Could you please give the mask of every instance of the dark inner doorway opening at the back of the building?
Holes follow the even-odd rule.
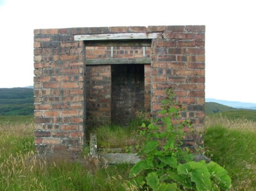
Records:
[[[111,66],[111,122],[127,124],[144,111],[144,64]]]

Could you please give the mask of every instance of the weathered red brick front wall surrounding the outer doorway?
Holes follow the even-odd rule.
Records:
[[[85,78],[96,74],[87,77],[84,60],[90,47],[85,50],[83,42],[74,41],[74,35],[144,32],[163,35],[163,38],[152,39],[152,47],[146,49],[151,68],[144,66],[145,91],[151,92],[151,102],[145,97],[145,107],[151,105],[151,112],[156,116],[165,97],[164,90],[172,87],[177,101],[187,108],[183,118],[191,118],[196,132],[203,130],[204,26],[39,29],[34,30],[34,116],[35,147],[40,153],[79,153],[82,149],[86,129],[85,98],[88,99]],[[91,48],[91,51],[96,50]],[[97,47],[97,51],[91,58],[110,58],[110,47]],[[114,58],[120,55],[138,58],[141,47],[116,47]],[[97,75],[94,77],[100,77]],[[108,95],[108,88],[97,88]],[[197,133],[187,137],[186,143],[195,141],[202,141]]]

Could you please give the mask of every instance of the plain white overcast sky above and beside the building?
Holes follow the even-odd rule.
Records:
[[[251,0],[0,0],[0,88],[33,85],[33,30],[205,25],[205,97],[256,103]]]

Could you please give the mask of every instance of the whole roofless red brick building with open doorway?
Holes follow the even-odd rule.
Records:
[[[35,147],[79,153],[89,126],[156,116],[172,87],[204,129],[204,26],[34,30]],[[186,143],[201,142],[197,133]]]

